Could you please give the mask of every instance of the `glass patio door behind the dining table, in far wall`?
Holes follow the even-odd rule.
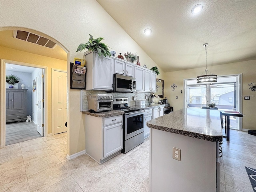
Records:
[[[196,79],[184,80],[187,107],[201,108],[214,102],[220,110],[241,111],[241,75],[218,77],[216,83],[196,84]],[[242,130],[242,118],[230,117],[230,128]]]

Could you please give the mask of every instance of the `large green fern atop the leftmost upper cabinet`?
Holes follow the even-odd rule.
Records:
[[[86,43],[81,43],[76,52],[78,51],[82,51],[84,49],[88,49],[89,51],[97,51],[99,56],[103,55],[103,56],[110,56],[110,51],[108,48],[110,48],[109,46],[107,46],[107,44],[102,43],[101,41],[104,39],[104,37],[99,37],[94,39],[93,36],[91,34],[89,34],[89,40]]]

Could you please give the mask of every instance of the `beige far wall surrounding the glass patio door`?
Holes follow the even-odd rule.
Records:
[[[183,108],[183,79],[196,78],[205,68],[196,68],[190,70],[181,70],[175,72],[168,72],[164,74],[164,92],[174,111]],[[250,100],[242,99],[242,112],[245,115],[243,118],[244,129],[256,129],[256,93],[249,90],[248,84],[256,82],[256,60],[230,63],[218,66],[208,67],[208,71],[217,75],[229,75],[242,73],[242,95],[250,96]],[[177,85],[176,91],[172,91],[170,86],[175,83]],[[180,93],[182,90],[182,94]],[[178,99],[176,99],[178,96]]]

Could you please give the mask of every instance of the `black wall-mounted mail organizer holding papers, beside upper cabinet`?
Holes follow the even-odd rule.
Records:
[[[86,68],[70,63],[70,89],[85,89]]]

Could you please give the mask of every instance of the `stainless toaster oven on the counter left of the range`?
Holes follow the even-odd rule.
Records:
[[[88,109],[91,112],[102,112],[113,110],[112,94],[93,94],[88,98]]]

